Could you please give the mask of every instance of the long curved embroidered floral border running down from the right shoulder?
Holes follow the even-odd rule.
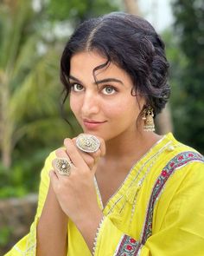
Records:
[[[182,152],[181,154],[177,154],[169,163],[163,168],[162,173],[158,176],[155,186],[153,188],[149,207],[146,215],[145,224],[143,227],[143,237],[142,244],[144,245],[146,240],[150,237],[152,233],[152,220],[153,220],[153,210],[158,199],[158,196],[161,194],[163,187],[166,181],[169,179],[169,176],[174,173],[175,169],[178,167],[182,167],[187,164],[189,161],[204,161],[204,157],[196,152]]]

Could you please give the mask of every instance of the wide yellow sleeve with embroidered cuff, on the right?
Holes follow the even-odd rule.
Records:
[[[182,183],[167,202],[169,207],[165,208],[163,221],[158,221],[162,225],[153,226],[145,244],[122,233],[106,217],[99,229],[95,256],[204,255],[204,165],[191,162],[176,172],[182,172]],[[155,207],[156,219],[161,218],[162,211],[162,205]]]

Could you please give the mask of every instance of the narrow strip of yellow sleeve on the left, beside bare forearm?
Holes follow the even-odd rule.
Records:
[[[35,220],[30,227],[29,234],[24,236],[22,240],[16,243],[15,246],[4,256],[35,256],[36,249],[36,226],[41,216],[41,211],[44,206],[49,187],[48,172],[52,169],[52,160],[55,158],[55,152],[49,154],[45,165],[41,170],[41,183],[39,188],[38,207],[35,214]]]

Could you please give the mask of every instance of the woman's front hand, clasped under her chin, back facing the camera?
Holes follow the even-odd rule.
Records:
[[[50,179],[54,193],[64,213],[73,222],[83,222],[89,218],[101,217],[93,177],[97,169],[99,158],[105,154],[105,143],[102,139],[99,150],[92,154],[81,152],[73,140],[64,141],[66,151],[58,149],[57,157],[70,159],[73,163],[70,176],[64,176],[57,171],[50,172]]]

